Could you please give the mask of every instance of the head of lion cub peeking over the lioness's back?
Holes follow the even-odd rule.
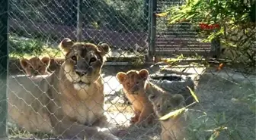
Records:
[[[50,74],[47,69],[50,65],[50,58],[43,57],[41,60],[38,57],[21,59],[21,67],[25,70],[27,76],[37,76]]]

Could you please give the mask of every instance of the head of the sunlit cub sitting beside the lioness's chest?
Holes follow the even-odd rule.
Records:
[[[144,93],[145,82],[148,79],[149,72],[146,69],[130,70],[127,73],[117,73],[117,79],[123,85],[123,89],[129,94],[137,95]]]

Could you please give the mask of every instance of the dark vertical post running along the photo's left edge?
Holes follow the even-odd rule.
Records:
[[[8,2],[0,4],[0,139],[7,137]]]

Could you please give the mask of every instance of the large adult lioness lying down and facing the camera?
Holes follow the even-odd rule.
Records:
[[[101,67],[109,46],[66,38],[59,48],[66,61],[52,74],[8,79],[9,119],[29,132],[62,138],[119,139],[97,127],[107,125]]]

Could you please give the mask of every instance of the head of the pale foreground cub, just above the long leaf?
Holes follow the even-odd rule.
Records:
[[[149,101],[152,102],[155,114],[158,117],[163,117],[172,110],[177,110],[185,106],[184,97],[179,94],[149,95]]]

